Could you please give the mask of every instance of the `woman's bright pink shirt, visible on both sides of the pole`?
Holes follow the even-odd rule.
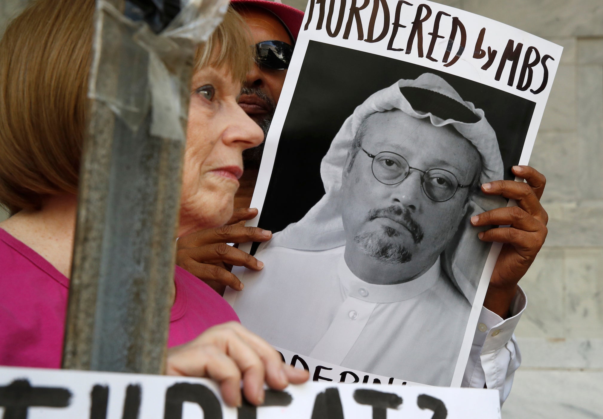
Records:
[[[229,304],[176,266],[168,347],[239,321]],[[69,279],[0,228],[0,365],[60,368]]]

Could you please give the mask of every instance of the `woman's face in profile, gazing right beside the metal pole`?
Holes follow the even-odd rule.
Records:
[[[243,172],[243,150],[264,140],[239,107],[241,84],[226,68],[206,67],[192,78],[178,236],[223,225]]]

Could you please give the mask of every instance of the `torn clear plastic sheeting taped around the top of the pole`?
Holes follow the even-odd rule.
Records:
[[[155,34],[111,2],[97,0],[89,98],[106,104],[133,132],[151,107],[150,134],[185,141],[195,49],[227,7],[228,0],[183,2],[168,27]]]

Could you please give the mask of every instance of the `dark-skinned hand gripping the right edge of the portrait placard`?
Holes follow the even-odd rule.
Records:
[[[491,228],[479,233],[486,242],[504,243],[494,266],[484,307],[505,318],[517,291],[517,283],[526,271],[546,238],[549,221],[540,197],[545,190],[546,179],[530,166],[514,166],[513,174],[527,183],[513,180],[497,180],[482,184],[486,195],[502,195],[517,201],[517,207],[497,208],[473,216],[473,225],[510,225]]]

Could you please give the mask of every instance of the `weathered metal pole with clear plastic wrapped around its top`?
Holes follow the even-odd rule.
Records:
[[[96,2],[63,368],[163,372],[192,63],[226,7]]]

